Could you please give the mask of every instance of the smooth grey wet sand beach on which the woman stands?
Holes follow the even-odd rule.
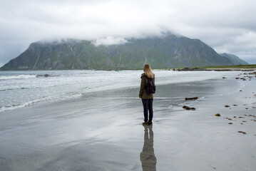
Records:
[[[255,170],[256,79],[235,77],[157,85],[152,127],[138,88],[6,111],[0,170]]]

